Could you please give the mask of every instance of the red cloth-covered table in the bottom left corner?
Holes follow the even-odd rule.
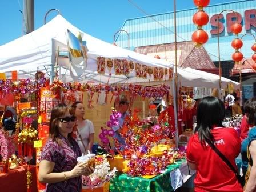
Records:
[[[32,174],[31,192],[37,191],[37,175],[35,166],[29,166]],[[9,170],[8,174],[0,173],[0,191],[27,192],[27,165],[19,166],[18,169]]]

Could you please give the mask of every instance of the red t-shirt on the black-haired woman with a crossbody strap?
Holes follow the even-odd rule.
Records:
[[[241,150],[240,139],[233,128],[217,127],[211,130],[218,150],[232,163]],[[202,146],[198,134],[194,134],[187,144],[187,161],[197,165],[195,192],[203,191],[243,191],[235,173],[210,146]]]

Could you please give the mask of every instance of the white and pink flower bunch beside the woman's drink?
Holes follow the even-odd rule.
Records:
[[[106,155],[96,159],[94,173],[89,176],[82,176],[83,189],[94,189],[102,187],[109,182],[111,178],[115,177],[117,169],[114,167],[110,171],[109,162],[107,162]]]

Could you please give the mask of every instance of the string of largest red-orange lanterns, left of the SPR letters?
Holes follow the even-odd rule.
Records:
[[[194,0],[194,4],[198,7],[198,11],[192,18],[193,23],[197,25],[197,31],[192,34],[192,41],[197,43],[196,46],[205,44],[208,41],[208,34],[203,31],[202,27],[209,22],[209,15],[203,11],[203,7],[206,7],[209,3],[210,0]]]

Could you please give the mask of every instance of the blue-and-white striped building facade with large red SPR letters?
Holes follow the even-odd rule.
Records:
[[[234,10],[238,15],[238,22],[242,24],[243,30],[239,34],[239,38],[246,33],[256,36],[256,1],[234,1],[221,3],[218,5],[209,5],[205,7],[205,12],[209,15],[209,23],[203,26],[208,33],[209,40],[204,45],[207,53],[213,62],[218,61],[218,38],[217,38],[217,16],[222,10]],[[193,15],[197,12],[197,7],[193,9],[179,10],[177,17],[177,41],[191,41],[192,33],[197,27],[192,22]],[[231,47],[231,41],[235,38],[230,33],[230,27],[235,22],[235,14],[231,11],[224,11],[219,17],[219,41],[221,61],[231,61],[231,55],[234,53]],[[163,43],[174,42],[174,13],[162,13],[150,15],[147,17],[139,17],[127,19],[122,26],[122,30],[126,30],[130,36],[130,47],[159,45]],[[119,33],[116,43],[118,46],[127,48],[128,35],[124,32]],[[253,54],[251,45],[254,43],[252,35],[246,35],[242,38],[242,53],[246,58],[250,58]]]

